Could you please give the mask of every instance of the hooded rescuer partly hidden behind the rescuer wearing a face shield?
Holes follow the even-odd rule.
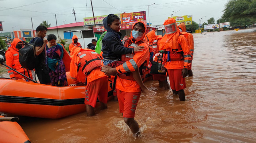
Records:
[[[157,62],[157,58],[159,58],[159,42],[162,39],[162,35],[155,35],[155,31],[152,30],[146,34],[146,39],[148,45],[151,47],[150,53],[150,61],[154,59]],[[151,63],[150,63],[151,64]],[[153,80],[158,80],[159,87],[164,87],[165,89],[169,89],[170,85],[167,82],[167,78],[162,74],[153,74]]]

